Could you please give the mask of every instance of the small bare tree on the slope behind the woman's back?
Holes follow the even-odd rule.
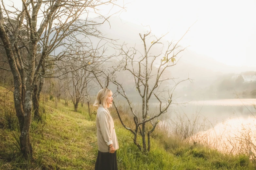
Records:
[[[97,52],[95,52],[95,50]],[[74,111],[77,111],[78,103],[84,96],[89,94],[88,88],[94,78],[90,70],[101,63],[100,57],[102,57],[102,55],[99,55],[98,48],[95,50],[85,49],[85,47],[78,44],[77,46],[73,45],[69,47],[69,51],[67,51],[67,55],[72,55],[72,58],[68,58],[68,62],[66,62],[65,66],[65,69],[70,72],[66,74],[66,80],[68,82],[66,88],[72,99]],[[104,53],[104,50],[102,53]]]

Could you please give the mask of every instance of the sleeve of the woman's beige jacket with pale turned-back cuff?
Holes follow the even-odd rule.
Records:
[[[98,120],[99,120],[99,125],[100,125],[100,131],[101,131],[104,141],[106,142],[106,144],[108,146],[113,144],[112,139],[111,139],[111,134],[109,131],[108,113],[106,113],[104,111],[100,112],[100,114],[98,116]]]

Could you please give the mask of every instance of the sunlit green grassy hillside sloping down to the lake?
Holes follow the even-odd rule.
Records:
[[[60,101],[55,108],[55,102],[48,100],[43,121],[31,124],[33,159],[24,160],[16,146],[17,120],[13,117],[11,126],[6,120],[9,113],[13,114],[12,94],[9,98],[5,93],[0,95],[0,169],[94,169],[95,116],[90,120],[86,107],[74,112],[71,104],[67,107]],[[115,126],[120,145],[117,150],[120,170],[256,169],[246,155],[224,155],[203,146],[185,144],[166,137],[159,130],[153,134],[151,152],[143,155],[132,143],[132,135],[117,119]]]

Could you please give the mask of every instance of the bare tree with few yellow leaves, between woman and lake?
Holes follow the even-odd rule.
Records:
[[[143,42],[144,52],[140,52],[135,48],[128,48],[126,44],[121,46],[115,45],[115,48],[121,51],[120,56],[123,56],[123,60],[119,62],[117,66],[108,68],[108,72],[106,70],[98,71],[98,74],[95,74],[95,77],[100,79],[99,74],[103,73],[105,79],[110,79],[111,82],[116,85],[117,94],[123,96],[127,101],[133,117],[133,125],[126,125],[122,120],[117,104],[113,102],[113,105],[115,106],[122,125],[133,134],[134,144],[139,150],[146,152],[150,151],[150,135],[159,123],[160,116],[166,113],[172,104],[175,88],[179,83],[185,81],[182,80],[176,82],[175,78],[169,78],[163,75],[168,67],[178,63],[178,61],[176,61],[178,58],[177,55],[186,48],[179,46],[179,42],[185,34],[179,41],[165,43],[167,44],[166,47],[164,43],[161,42],[165,35],[157,38],[151,34],[151,31],[139,35]],[[154,47],[156,47],[155,49],[165,48],[165,50],[164,52],[158,51],[158,54],[154,55],[154,52],[151,51]],[[132,82],[136,87],[135,91],[141,98],[141,110],[138,110],[138,107],[134,108],[125,91],[126,87],[130,87],[130,85],[120,83],[118,81],[118,76],[115,76],[115,73],[117,71],[120,72],[121,69],[127,72],[126,75],[132,75],[134,79]],[[121,74],[123,75],[124,73],[122,72]],[[188,78],[186,80],[191,79]],[[100,81],[98,82],[101,84]],[[169,86],[166,86],[166,83],[164,82],[167,82]],[[174,82],[174,84],[170,88],[171,82]],[[103,88],[102,85],[101,87]],[[157,105],[154,105],[155,107],[151,107],[150,109],[150,102]],[[151,126],[151,128],[149,126]],[[142,136],[142,145],[137,140],[138,132]]]

